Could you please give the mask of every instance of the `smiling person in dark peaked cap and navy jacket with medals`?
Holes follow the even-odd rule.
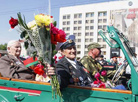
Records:
[[[56,64],[60,88],[65,88],[69,84],[79,86],[90,86],[92,80],[84,71],[83,65],[76,60],[75,42],[68,39],[60,47],[64,57]]]

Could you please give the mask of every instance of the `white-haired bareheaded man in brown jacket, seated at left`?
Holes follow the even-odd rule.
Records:
[[[20,42],[16,40],[9,41],[7,51],[8,55],[0,58],[1,75],[8,78],[34,80],[36,74],[30,68],[25,67],[20,58]],[[48,71],[51,72],[51,70]]]

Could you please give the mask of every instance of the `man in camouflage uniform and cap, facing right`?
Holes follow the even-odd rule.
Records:
[[[97,72],[102,70],[102,66],[95,60],[101,54],[100,44],[93,42],[88,45],[88,55],[84,56],[80,61],[90,73],[92,79]],[[103,78],[101,78],[103,79]]]

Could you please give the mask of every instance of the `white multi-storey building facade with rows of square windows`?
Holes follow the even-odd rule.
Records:
[[[126,10],[127,12],[128,9],[138,8],[137,4],[138,1],[135,0],[62,7],[60,8],[59,28],[63,29],[67,35],[75,35],[78,58],[82,58],[87,54],[88,44],[98,42],[103,47],[102,54],[109,59],[110,47],[103,41],[98,31],[101,29],[106,30],[106,26],[111,24],[115,27],[119,25],[118,28],[120,28],[120,25],[122,26],[126,23],[126,20],[122,18],[122,10]],[[118,20],[119,24],[116,23],[115,19],[118,17],[118,12],[121,14],[121,18]],[[116,14],[114,15],[114,13]],[[124,15],[128,14],[123,14],[123,17]],[[124,27],[121,27],[120,30],[122,31],[123,29],[124,31],[128,30]]]

